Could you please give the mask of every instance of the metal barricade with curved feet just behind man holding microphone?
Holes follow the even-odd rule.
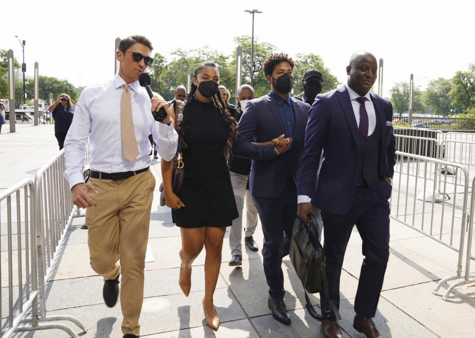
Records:
[[[64,238],[65,231],[75,212],[69,185],[64,178],[64,149],[45,164],[35,176],[37,194],[38,224],[38,274],[39,304],[42,321],[71,321],[87,331],[86,327],[75,317],[47,316],[45,284],[52,272],[52,262],[57,249]],[[72,337],[79,337],[68,326],[59,323],[48,324],[47,329],[61,329]]]

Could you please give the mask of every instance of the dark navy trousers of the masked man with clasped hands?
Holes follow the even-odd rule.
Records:
[[[252,197],[264,233],[262,256],[269,295],[272,299],[284,299],[282,250],[284,248],[288,253],[288,244],[292,238],[292,226],[297,215],[297,188],[293,180],[289,179],[277,198]]]

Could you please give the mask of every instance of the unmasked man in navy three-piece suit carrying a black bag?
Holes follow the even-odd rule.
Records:
[[[391,103],[372,92],[378,63],[354,53],[345,86],[319,95],[310,109],[298,173],[298,217],[322,210],[330,298],[339,306],[346,245],[356,225],[365,256],[355,298],[353,327],[381,337],[375,316],[389,257],[389,202],[395,164]],[[322,152],[323,150],[323,152]],[[325,301],[321,294],[322,309]],[[334,314],[322,321],[325,337],[342,337]]]

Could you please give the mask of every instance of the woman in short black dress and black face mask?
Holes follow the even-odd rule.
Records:
[[[185,179],[179,192],[172,191],[173,162],[161,160],[166,205],[172,208],[174,223],[180,227],[182,249],[179,285],[186,296],[191,288],[191,264],[206,249],[203,310],[206,324],[218,329],[219,317],[213,294],[221,266],[221,249],[226,227],[238,218],[224,146],[232,141],[236,121],[219,95],[219,72],[214,62],[195,69],[183,116],[176,126],[180,136]],[[180,104],[177,102],[176,104]],[[180,114],[180,113],[179,113]],[[179,115],[178,114],[178,115]]]

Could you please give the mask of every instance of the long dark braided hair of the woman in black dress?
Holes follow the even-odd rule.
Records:
[[[205,61],[201,63],[196,69],[194,70],[193,73],[193,78],[197,79],[198,74],[206,67],[215,67],[216,69],[218,66],[216,63],[212,61]],[[218,71],[218,76],[219,76],[219,71]],[[189,124],[190,124],[190,114],[189,114],[189,108],[191,104],[191,100],[195,96],[197,86],[194,85],[193,82],[191,82],[191,87],[190,87],[190,94],[188,94],[187,100],[185,102],[185,106],[183,107],[183,120],[180,125],[180,130],[178,132],[178,135],[180,137],[180,147],[182,149],[186,148],[186,144],[183,141],[183,136],[188,132],[189,130]],[[213,103],[216,109],[218,109],[221,119],[223,122],[224,127],[226,128],[228,135],[232,136],[233,138],[236,138],[236,133],[233,133],[233,128],[232,126],[236,126],[236,120],[231,116],[229,113],[228,109],[226,108],[226,104],[223,102],[223,99],[221,98],[221,95],[219,95],[219,91],[216,92],[215,95],[213,95]]]

